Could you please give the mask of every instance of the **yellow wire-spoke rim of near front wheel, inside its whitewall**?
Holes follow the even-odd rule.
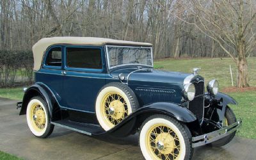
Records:
[[[179,159],[180,141],[170,127],[156,124],[147,132],[147,149],[154,159]]]

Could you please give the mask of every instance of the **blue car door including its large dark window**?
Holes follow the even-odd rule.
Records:
[[[64,51],[65,108],[94,113],[97,94],[105,84],[104,48],[67,45]]]

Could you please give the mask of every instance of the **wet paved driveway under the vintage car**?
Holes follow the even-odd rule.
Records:
[[[36,138],[19,116],[15,100],[0,98],[0,150],[24,159],[143,159],[137,136],[92,138],[55,127],[47,139]],[[197,159],[256,159],[256,140],[234,138],[221,148],[199,147]]]

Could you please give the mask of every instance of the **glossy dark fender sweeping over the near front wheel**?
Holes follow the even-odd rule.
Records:
[[[196,116],[188,108],[184,108],[179,104],[156,102],[143,106],[134,113],[131,113],[131,115],[127,116],[127,118],[108,132],[115,136],[127,136],[134,129],[138,129],[145,118],[156,114],[170,116],[182,123],[195,122],[197,120]]]

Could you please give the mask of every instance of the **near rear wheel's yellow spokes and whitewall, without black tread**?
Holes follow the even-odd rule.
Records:
[[[42,99],[31,99],[27,107],[27,122],[35,136],[43,136],[48,126],[48,116]]]

